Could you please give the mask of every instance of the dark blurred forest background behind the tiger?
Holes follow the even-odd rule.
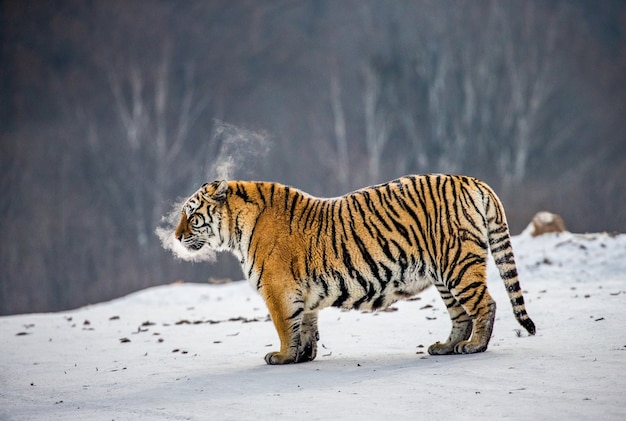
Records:
[[[0,44],[0,314],[242,278],[154,234],[226,170],[463,173],[513,233],[626,229],[621,0],[0,0]]]

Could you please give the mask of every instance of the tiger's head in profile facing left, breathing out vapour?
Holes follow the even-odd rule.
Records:
[[[224,180],[204,184],[183,205],[180,222],[174,236],[193,251],[205,245],[213,250],[224,249],[222,208],[228,193]]]

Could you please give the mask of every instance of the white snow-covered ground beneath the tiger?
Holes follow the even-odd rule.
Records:
[[[245,282],[173,284],[0,318],[0,419],[626,419],[626,235],[514,237],[528,312],[495,267],[487,352],[430,356],[434,289],[397,311],[320,313],[318,357],[267,366],[278,338]]]

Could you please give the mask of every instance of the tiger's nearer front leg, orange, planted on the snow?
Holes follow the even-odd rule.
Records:
[[[280,351],[269,352],[265,355],[265,362],[270,365],[300,362],[303,301],[298,297],[280,292],[273,294],[271,290],[266,290],[264,295],[270,317],[280,339]]]

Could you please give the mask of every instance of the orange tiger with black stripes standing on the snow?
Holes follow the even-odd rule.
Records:
[[[434,285],[452,329],[431,355],[487,349],[496,303],[489,250],[513,313],[530,335],[503,205],[483,181],[408,175],[336,198],[274,182],[206,183],[182,207],[175,240],[234,254],[263,297],[280,339],[267,364],[312,361],[318,312],[374,311]]]

